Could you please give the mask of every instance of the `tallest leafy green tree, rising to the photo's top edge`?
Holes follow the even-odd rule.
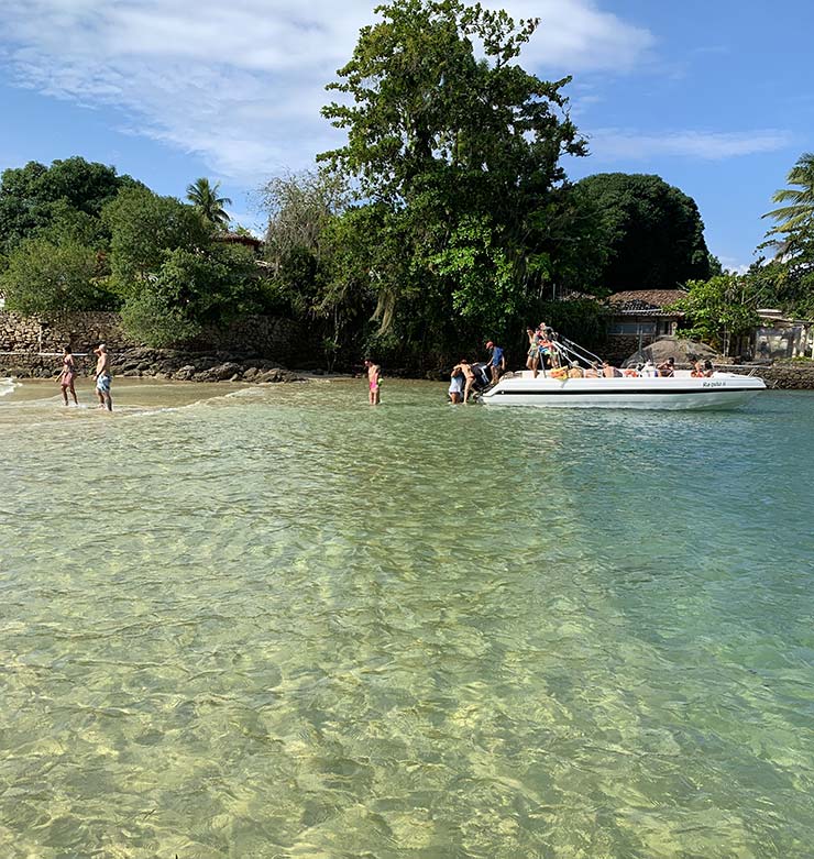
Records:
[[[522,313],[539,273],[530,212],[564,179],[560,156],[585,144],[562,93],[570,78],[544,81],[515,62],[537,20],[459,0],[376,12],[328,87],[351,100],[322,110],[348,142],[319,159],[377,207],[376,238],[397,255],[371,268],[382,332],[410,330],[424,352]]]

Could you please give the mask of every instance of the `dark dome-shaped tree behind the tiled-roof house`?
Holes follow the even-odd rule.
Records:
[[[712,274],[695,201],[659,176],[601,173],[576,187],[600,218],[600,280],[610,291],[674,289]]]

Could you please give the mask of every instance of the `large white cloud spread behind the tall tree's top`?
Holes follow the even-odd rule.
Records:
[[[646,31],[593,0],[490,2],[542,23],[527,66],[631,68]],[[374,20],[362,0],[3,0],[0,64],[21,86],[114,106],[132,131],[199,154],[219,176],[256,184],[339,141],[324,84]]]

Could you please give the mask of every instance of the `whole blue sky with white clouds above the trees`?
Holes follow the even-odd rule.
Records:
[[[591,155],[569,176],[654,173],[695,199],[741,268],[771,195],[814,151],[814,3],[505,0],[540,18],[520,64],[565,92]],[[183,198],[256,189],[341,145],[324,85],[377,20],[365,0],[0,0],[0,169],[82,155]]]

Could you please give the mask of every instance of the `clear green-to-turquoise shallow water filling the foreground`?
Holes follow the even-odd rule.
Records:
[[[0,855],[811,855],[813,395],[53,392],[0,405]]]

